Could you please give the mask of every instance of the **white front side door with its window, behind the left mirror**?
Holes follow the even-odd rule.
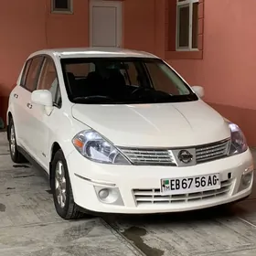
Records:
[[[49,163],[49,138],[59,126],[61,108],[61,95],[59,90],[59,78],[55,63],[50,57],[46,57],[37,82],[37,90],[48,90],[52,93],[53,111],[48,115],[44,106],[33,104],[33,113],[31,117],[31,133],[34,137],[34,151],[37,161],[46,170]]]

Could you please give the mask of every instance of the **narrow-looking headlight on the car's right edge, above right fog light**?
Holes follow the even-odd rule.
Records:
[[[245,152],[248,149],[244,134],[240,127],[235,123],[229,123],[231,132],[231,143],[229,147],[229,155],[235,155]]]

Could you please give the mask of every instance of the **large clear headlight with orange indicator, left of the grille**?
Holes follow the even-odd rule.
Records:
[[[104,163],[116,165],[130,165],[118,149],[107,142],[95,131],[82,131],[73,139],[72,143],[81,155],[86,158]]]

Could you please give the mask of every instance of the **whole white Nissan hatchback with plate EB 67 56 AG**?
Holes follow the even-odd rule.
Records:
[[[41,50],[10,94],[10,154],[48,173],[63,219],[238,201],[251,194],[251,151],[203,93],[146,52]]]

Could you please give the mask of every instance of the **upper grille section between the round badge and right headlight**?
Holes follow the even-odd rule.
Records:
[[[197,163],[208,162],[228,155],[229,140],[196,147]]]

